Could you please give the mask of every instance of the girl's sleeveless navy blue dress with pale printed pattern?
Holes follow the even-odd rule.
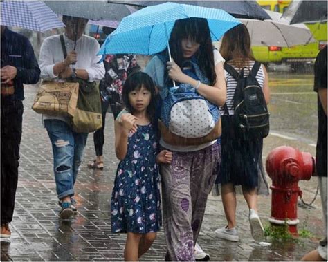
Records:
[[[118,164],[111,195],[111,232],[157,232],[161,225],[160,176],[152,124],[129,133],[127,156]]]

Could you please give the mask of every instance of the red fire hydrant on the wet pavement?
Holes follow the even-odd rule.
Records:
[[[293,147],[277,147],[266,158],[266,172],[272,179],[271,225],[287,223],[289,232],[297,235],[298,196],[302,191],[299,180],[310,180],[315,160],[310,153],[300,152]]]

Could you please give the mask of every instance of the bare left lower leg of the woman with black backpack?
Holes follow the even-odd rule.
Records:
[[[228,228],[233,228],[236,226],[236,193],[233,184],[221,185],[222,191],[222,203],[224,204],[224,213],[226,214],[226,219],[228,221]]]

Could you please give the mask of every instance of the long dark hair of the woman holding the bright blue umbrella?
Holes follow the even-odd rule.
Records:
[[[217,74],[215,73],[213,46],[208,21],[203,18],[192,17],[175,22],[169,44],[172,58],[180,68],[185,60],[181,46],[181,40],[184,38],[192,39],[200,44],[199,50],[194,56],[202,73],[209,79],[210,85],[214,85],[217,82]]]

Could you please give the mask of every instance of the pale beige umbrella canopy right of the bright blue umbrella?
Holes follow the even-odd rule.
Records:
[[[281,13],[266,12],[273,19],[239,19],[247,26],[253,46],[295,46],[316,41],[304,24],[290,25],[288,21],[281,19]]]

